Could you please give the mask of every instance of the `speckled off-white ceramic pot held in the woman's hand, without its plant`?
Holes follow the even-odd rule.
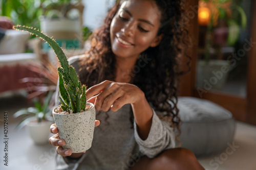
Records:
[[[95,106],[90,110],[73,114],[58,114],[52,111],[59,137],[66,141],[63,149],[71,149],[72,153],[87,151],[92,146],[95,126]]]

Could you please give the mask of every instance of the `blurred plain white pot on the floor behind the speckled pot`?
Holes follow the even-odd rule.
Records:
[[[48,120],[40,123],[32,121],[26,125],[26,129],[35,144],[46,144],[49,143],[50,127],[52,124]]]

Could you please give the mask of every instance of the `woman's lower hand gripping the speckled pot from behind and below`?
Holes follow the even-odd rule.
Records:
[[[95,120],[95,127],[99,126],[100,122],[99,120]],[[63,145],[65,145],[65,140],[60,139],[59,138],[59,134],[58,134],[58,129],[56,127],[56,124],[52,124],[50,127],[50,132],[55,134],[52,137],[49,138],[49,143],[56,148],[56,152],[57,154],[59,154],[60,156],[70,156],[71,158],[79,158],[80,156],[82,156],[82,154],[86,151],[84,151],[83,153],[75,153],[72,154],[72,151],[70,149],[64,150],[62,148]]]

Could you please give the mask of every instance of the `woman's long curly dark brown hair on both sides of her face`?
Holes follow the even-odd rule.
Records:
[[[124,0],[125,1],[125,0]],[[177,28],[184,12],[182,0],[154,0],[161,11],[161,24],[158,35],[164,34],[160,44],[149,47],[137,60],[138,70],[133,69],[133,84],[144,93],[148,103],[162,114],[158,116],[167,120],[177,130],[176,139],[180,135],[179,109],[177,108],[177,78],[184,72],[179,71],[177,58],[186,55],[188,31],[184,27]],[[118,1],[105,17],[102,27],[97,29],[90,38],[91,48],[86,53],[89,57],[79,61],[79,78],[83,84],[91,87],[104,80],[114,81],[116,60],[111,50],[110,25],[123,1]],[[190,57],[189,58],[190,62]],[[138,61],[147,58],[143,67]],[[189,63],[187,63],[188,65]],[[134,67],[134,68],[135,68]],[[188,69],[190,69],[188,67]],[[132,118],[131,118],[132,119]],[[179,141],[179,140],[178,140]]]

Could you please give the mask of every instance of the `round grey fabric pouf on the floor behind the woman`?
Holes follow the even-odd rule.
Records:
[[[182,148],[204,157],[223,152],[232,144],[236,122],[225,108],[198,98],[179,97]]]

